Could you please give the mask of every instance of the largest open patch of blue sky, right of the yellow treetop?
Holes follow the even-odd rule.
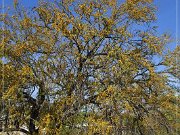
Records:
[[[157,26],[160,34],[167,32],[171,34],[174,42],[168,45],[172,50],[176,47],[176,37],[180,38],[178,27],[180,25],[180,4],[179,0],[154,0],[158,8],[157,11]],[[178,3],[177,3],[178,2]]]

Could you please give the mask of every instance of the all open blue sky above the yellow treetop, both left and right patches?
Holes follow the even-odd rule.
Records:
[[[0,0],[1,5],[4,1],[5,6],[12,6],[14,0]],[[50,0],[49,0],[50,1]],[[180,24],[180,15],[176,13],[180,13],[180,7],[177,7],[177,1],[179,0],[154,0],[154,4],[157,6],[158,11],[157,11],[157,26],[158,28],[158,33],[162,34],[164,32],[168,32],[171,34],[171,36],[174,38],[174,42],[169,44],[168,47],[173,50],[176,46],[175,39],[176,35],[180,35],[180,32],[177,33],[177,28],[176,26],[179,27]],[[19,2],[22,3],[25,7],[34,7],[37,5],[38,0],[19,0]],[[180,5],[180,1],[179,1]],[[178,10],[178,12],[176,12]],[[178,16],[178,17],[177,17]],[[176,23],[178,22],[178,25]],[[177,34],[176,34],[177,33]]]

